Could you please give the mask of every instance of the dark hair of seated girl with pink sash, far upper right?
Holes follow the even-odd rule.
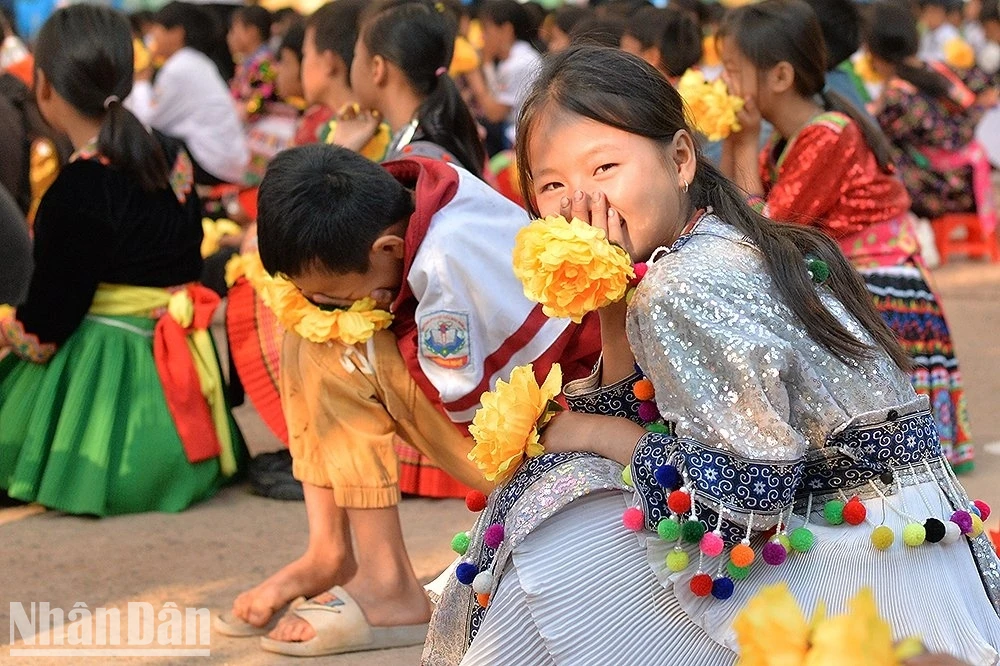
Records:
[[[869,7],[865,42],[872,55],[891,63],[896,75],[934,99],[948,99],[951,83],[933,69],[907,61],[920,49],[920,33],[913,12],[895,2],[880,1]]]

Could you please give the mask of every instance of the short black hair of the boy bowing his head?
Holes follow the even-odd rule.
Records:
[[[272,275],[364,273],[376,239],[412,214],[412,193],[378,164],[338,146],[291,148],[260,184],[260,258]]]

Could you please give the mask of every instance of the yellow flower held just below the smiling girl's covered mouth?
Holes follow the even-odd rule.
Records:
[[[576,323],[620,300],[635,275],[628,253],[609,243],[603,229],[561,215],[535,220],[517,233],[514,274],[546,315]]]

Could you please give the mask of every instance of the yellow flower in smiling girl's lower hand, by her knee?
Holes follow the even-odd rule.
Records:
[[[493,391],[484,393],[482,407],[469,426],[476,445],[469,460],[488,481],[503,481],[525,456],[544,452],[539,430],[558,411],[553,398],[562,390],[562,369],[554,364],[539,386],[531,364],[514,368],[510,382],[497,381]]]

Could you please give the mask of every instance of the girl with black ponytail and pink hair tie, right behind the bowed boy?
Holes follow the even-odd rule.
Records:
[[[422,0],[376,3],[362,17],[351,87],[392,130],[387,160],[446,159],[482,177],[479,129],[448,74],[456,27]]]

